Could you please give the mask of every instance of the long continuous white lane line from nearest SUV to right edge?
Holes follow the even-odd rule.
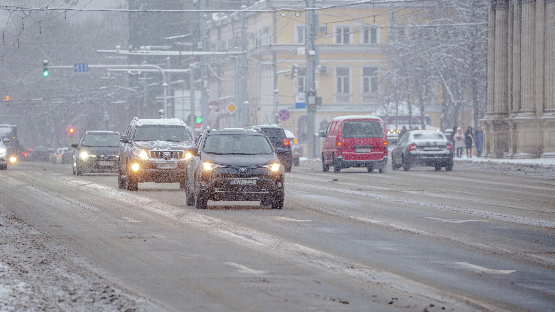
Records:
[[[453,212],[480,215],[481,217],[495,219],[495,220],[501,220],[501,221],[505,221],[505,222],[514,222],[514,223],[520,223],[520,224],[536,225],[536,226],[539,226],[539,227],[555,228],[555,222],[551,221],[551,220],[521,217],[519,215],[511,215],[511,214],[505,214],[505,213],[503,213],[503,214],[502,213],[493,213],[493,212],[489,212],[489,211],[486,211],[486,210],[479,210],[479,209],[471,209],[471,208],[447,206],[447,205],[442,205],[442,204],[434,204],[434,203],[422,202],[421,200],[412,200],[412,199],[404,199],[404,198],[400,198],[400,197],[392,197],[392,196],[386,196],[386,195],[371,194],[371,193],[360,192],[360,191],[357,191],[357,190],[335,189],[335,188],[329,188],[329,187],[321,187],[319,185],[307,185],[305,183],[295,183],[295,182],[289,182],[287,184],[291,185],[293,187],[304,188],[305,190],[306,189],[317,189],[317,190],[325,190],[327,192],[337,192],[337,193],[341,193],[341,194],[358,195],[358,196],[367,197],[367,198],[386,200],[388,202],[408,204],[408,205],[411,205],[411,206],[419,205],[419,206],[428,207],[428,208],[451,210]]]

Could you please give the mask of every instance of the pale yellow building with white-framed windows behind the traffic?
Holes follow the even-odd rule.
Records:
[[[342,4],[319,1],[317,6]],[[266,0],[250,9],[304,8],[305,2]],[[322,106],[316,113],[316,130],[326,127],[334,117],[345,114],[371,114],[381,97],[380,70],[385,67],[384,44],[392,14],[402,16],[408,9],[402,3],[359,4],[316,11],[317,96]],[[406,7],[406,5],[405,5]],[[413,6],[411,10],[414,10]],[[249,121],[276,123],[276,113],[289,109],[289,120],[281,126],[301,136],[306,109],[295,108],[295,93],[305,92],[306,56],[305,14],[293,12],[247,13]],[[211,51],[234,51],[241,43],[240,14],[214,16],[208,23]],[[234,61],[214,59],[209,82],[210,98],[220,106],[234,100]],[[296,77],[295,77],[296,76]],[[220,110],[223,111],[223,110]],[[234,125],[231,115],[220,115],[220,127]],[[298,126],[298,127],[297,127]],[[300,132],[300,133],[298,133]]]

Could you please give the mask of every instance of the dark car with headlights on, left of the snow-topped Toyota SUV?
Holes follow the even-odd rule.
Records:
[[[87,131],[79,139],[79,143],[71,146],[75,148],[73,174],[117,171],[119,132]]]

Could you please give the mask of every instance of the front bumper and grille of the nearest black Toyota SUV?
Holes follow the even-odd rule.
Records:
[[[266,168],[251,168],[240,174],[235,168],[216,168],[217,172],[204,172],[200,187],[202,196],[210,200],[251,201],[267,200],[284,195],[284,175],[282,170],[270,172]],[[232,185],[232,179],[253,179],[254,185]]]

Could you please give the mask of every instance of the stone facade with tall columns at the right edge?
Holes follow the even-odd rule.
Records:
[[[555,0],[491,0],[485,154],[555,157]]]

